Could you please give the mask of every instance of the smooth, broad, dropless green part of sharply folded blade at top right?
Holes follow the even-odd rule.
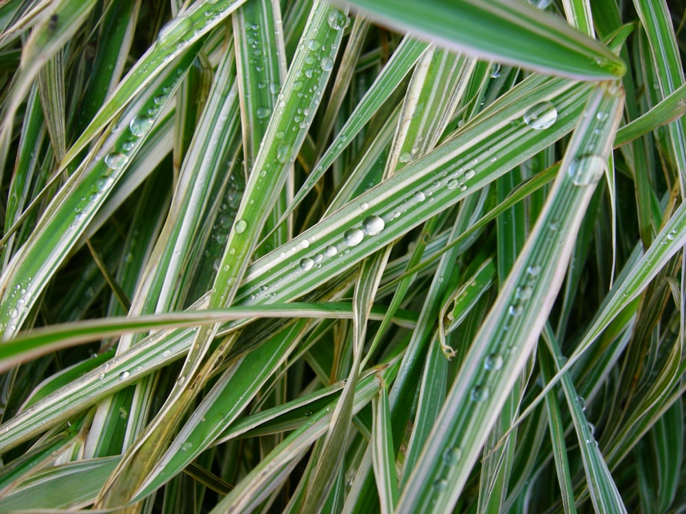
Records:
[[[521,1],[406,0],[402,9],[388,0],[347,3],[384,24],[487,60],[572,79],[613,79],[626,71],[600,42]]]

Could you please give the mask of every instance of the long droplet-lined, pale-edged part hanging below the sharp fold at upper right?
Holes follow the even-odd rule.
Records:
[[[482,323],[403,490],[399,513],[441,513],[455,505],[552,308],[622,105],[617,86],[601,84],[591,94],[539,221]],[[460,458],[446,462],[446,451],[459,452]]]

